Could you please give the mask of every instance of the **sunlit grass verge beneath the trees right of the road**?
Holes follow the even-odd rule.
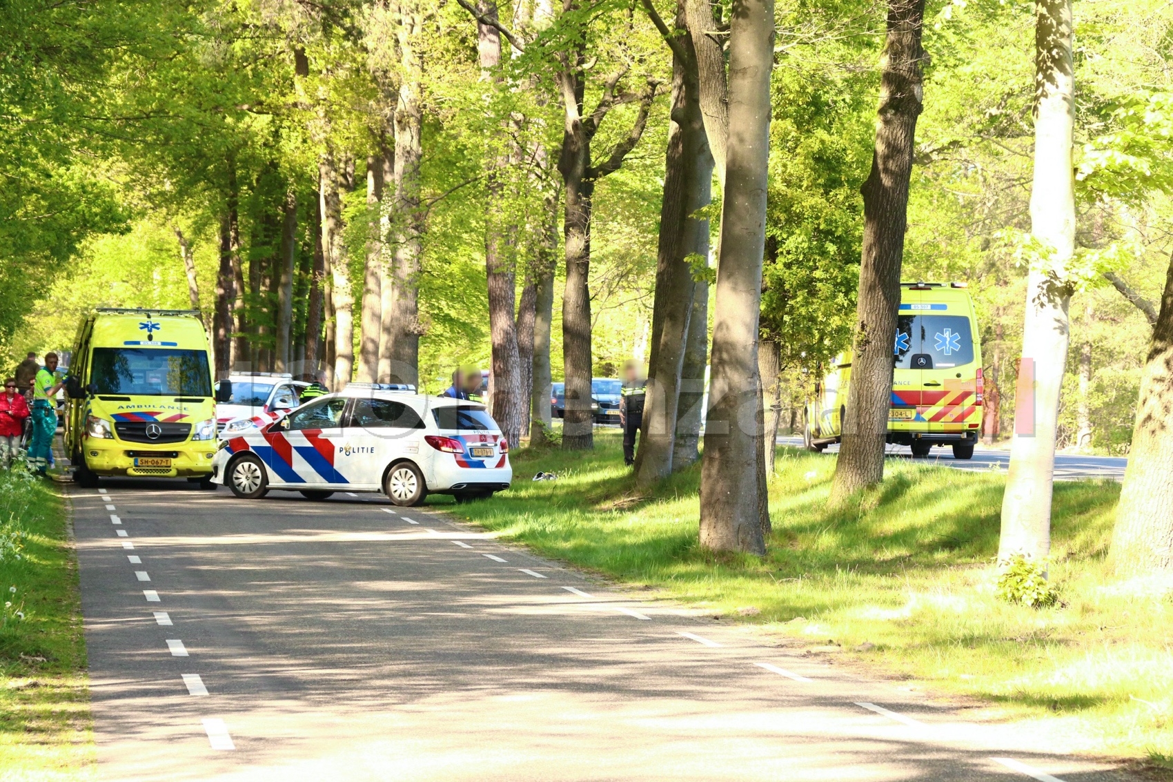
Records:
[[[1004,476],[889,461],[859,506],[828,510],[834,458],[779,451],[765,559],[697,545],[699,470],[635,490],[615,433],[585,454],[520,451],[517,480],[446,510],[534,551],[730,620],[764,625],[984,716],[1029,719],[1072,751],[1173,761],[1173,599],[1125,588],[1104,565],[1119,486],[1056,486],[1052,579],[1060,605],[994,595]],[[558,480],[530,481],[538,470]],[[436,503],[445,501],[436,498]]]

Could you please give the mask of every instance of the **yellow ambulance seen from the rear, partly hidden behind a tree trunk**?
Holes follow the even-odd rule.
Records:
[[[982,429],[982,345],[965,283],[901,283],[893,344],[888,443],[924,458],[934,445],[970,459]],[[847,412],[852,353],[841,353],[814,385],[804,413],[807,449],[839,443]]]

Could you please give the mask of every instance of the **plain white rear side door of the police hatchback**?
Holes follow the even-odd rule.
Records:
[[[418,463],[423,419],[398,399],[355,399],[339,459],[347,474],[365,487],[381,488],[382,473],[394,459]]]

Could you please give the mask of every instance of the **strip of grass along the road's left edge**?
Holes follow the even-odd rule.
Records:
[[[0,471],[0,595],[12,604],[0,619],[0,780],[93,778],[77,562],[65,499],[54,484],[16,471]]]

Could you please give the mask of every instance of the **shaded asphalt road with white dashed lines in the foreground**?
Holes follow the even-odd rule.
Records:
[[[102,483],[72,490],[102,778],[1130,778],[439,513]]]

